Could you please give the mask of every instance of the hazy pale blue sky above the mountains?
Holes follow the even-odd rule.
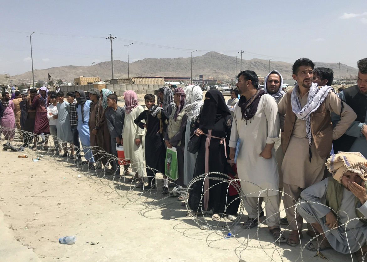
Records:
[[[0,73],[113,58],[201,56],[208,51],[292,63],[307,57],[356,67],[367,57],[367,1],[3,1]]]

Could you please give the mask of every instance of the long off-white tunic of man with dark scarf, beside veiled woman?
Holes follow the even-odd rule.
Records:
[[[270,159],[259,156],[267,143],[275,143],[279,139],[280,122],[275,99],[269,94],[262,95],[253,119],[246,121],[241,120],[241,117],[241,108],[236,106],[229,146],[235,148],[240,138],[238,177],[250,182],[240,181],[241,189],[248,197],[258,197],[259,193],[254,192],[265,189],[278,190],[279,174],[274,147]],[[260,196],[276,194],[278,191],[267,191]]]

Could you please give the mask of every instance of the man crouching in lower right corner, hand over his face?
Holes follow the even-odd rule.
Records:
[[[359,152],[339,152],[326,164],[333,177],[306,188],[298,205],[299,214],[319,235],[306,248],[352,252],[362,261],[361,251],[367,251],[367,160]]]

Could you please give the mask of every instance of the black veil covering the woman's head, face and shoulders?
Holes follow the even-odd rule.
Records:
[[[206,92],[205,97],[209,99],[204,100],[203,110],[200,114],[199,128],[205,128],[207,130],[213,129],[214,124],[230,114],[228,106],[222,93],[219,90],[209,90]]]

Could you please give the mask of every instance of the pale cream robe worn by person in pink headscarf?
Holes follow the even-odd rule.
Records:
[[[145,129],[141,129],[134,123],[139,114],[143,112],[142,106],[133,108],[129,114],[125,113],[124,127],[122,130],[122,138],[124,144],[124,154],[127,159],[131,159],[130,168],[132,172],[138,172],[139,177],[145,177],[145,165],[144,165],[144,139]],[[135,139],[140,139],[139,146],[135,145]]]

